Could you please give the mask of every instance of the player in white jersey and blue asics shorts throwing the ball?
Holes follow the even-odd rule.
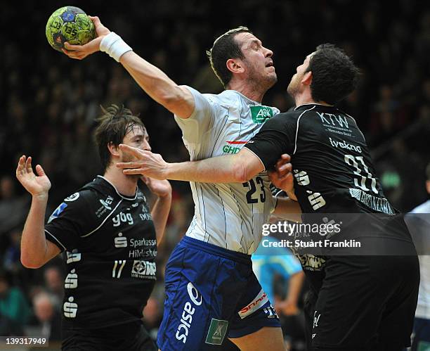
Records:
[[[121,63],[151,98],[174,113],[191,160],[237,153],[263,122],[279,113],[261,105],[277,79],[273,52],[246,27],[214,42],[209,59],[226,91],[211,95],[178,86],[98,18],[91,19],[98,37],[84,46],[66,44],[64,52],[82,59],[100,50]],[[158,347],[205,350],[228,336],[241,350],[284,350],[278,316],[250,259],[261,224],[275,208],[267,174],[243,184],[191,182],[191,189],[195,217],[167,264]],[[288,200],[279,200],[276,208],[299,211]]]

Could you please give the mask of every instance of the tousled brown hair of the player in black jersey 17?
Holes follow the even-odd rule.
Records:
[[[131,110],[124,108],[124,106],[111,105],[106,109],[101,106],[101,109],[103,115],[97,118],[99,124],[94,131],[94,139],[98,147],[103,172],[105,172],[110,164],[110,151],[107,145],[112,143],[119,146],[124,140],[124,136],[133,130],[133,127],[141,126],[145,129],[145,125],[139,117],[133,115]]]

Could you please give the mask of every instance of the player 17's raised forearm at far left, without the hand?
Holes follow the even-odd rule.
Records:
[[[47,193],[32,197],[32,205],[21,238],[21,262],[27,268],[39,268],[45,263],[47,245],[44,222],[47,203]]]

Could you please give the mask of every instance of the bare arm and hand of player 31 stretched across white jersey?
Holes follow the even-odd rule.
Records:
[[[264,170],[260,159],[247,148],[235,155],[207,158],[200,161],[168,163],[159,154],[142,151],[124,144],[119,147],[124,153],[138,160],[120,162],[117,167],[124,174],[145,174],[154,179],[200,181],[203,183],[243,183]]]

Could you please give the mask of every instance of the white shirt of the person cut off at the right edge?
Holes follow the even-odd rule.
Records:
[[[414,208],[410,213],[430,213],[430,200]],[[423,232],[426,233],[430,229],[429,215],[421,218],[424,219],[423,224],[426,225],[426,228],[423,228]],[[430,238],[424,238],[424,240],[428,243]],[[420,255],[418,258],[420,281],[415,317],[430,319],[430,256]]]

